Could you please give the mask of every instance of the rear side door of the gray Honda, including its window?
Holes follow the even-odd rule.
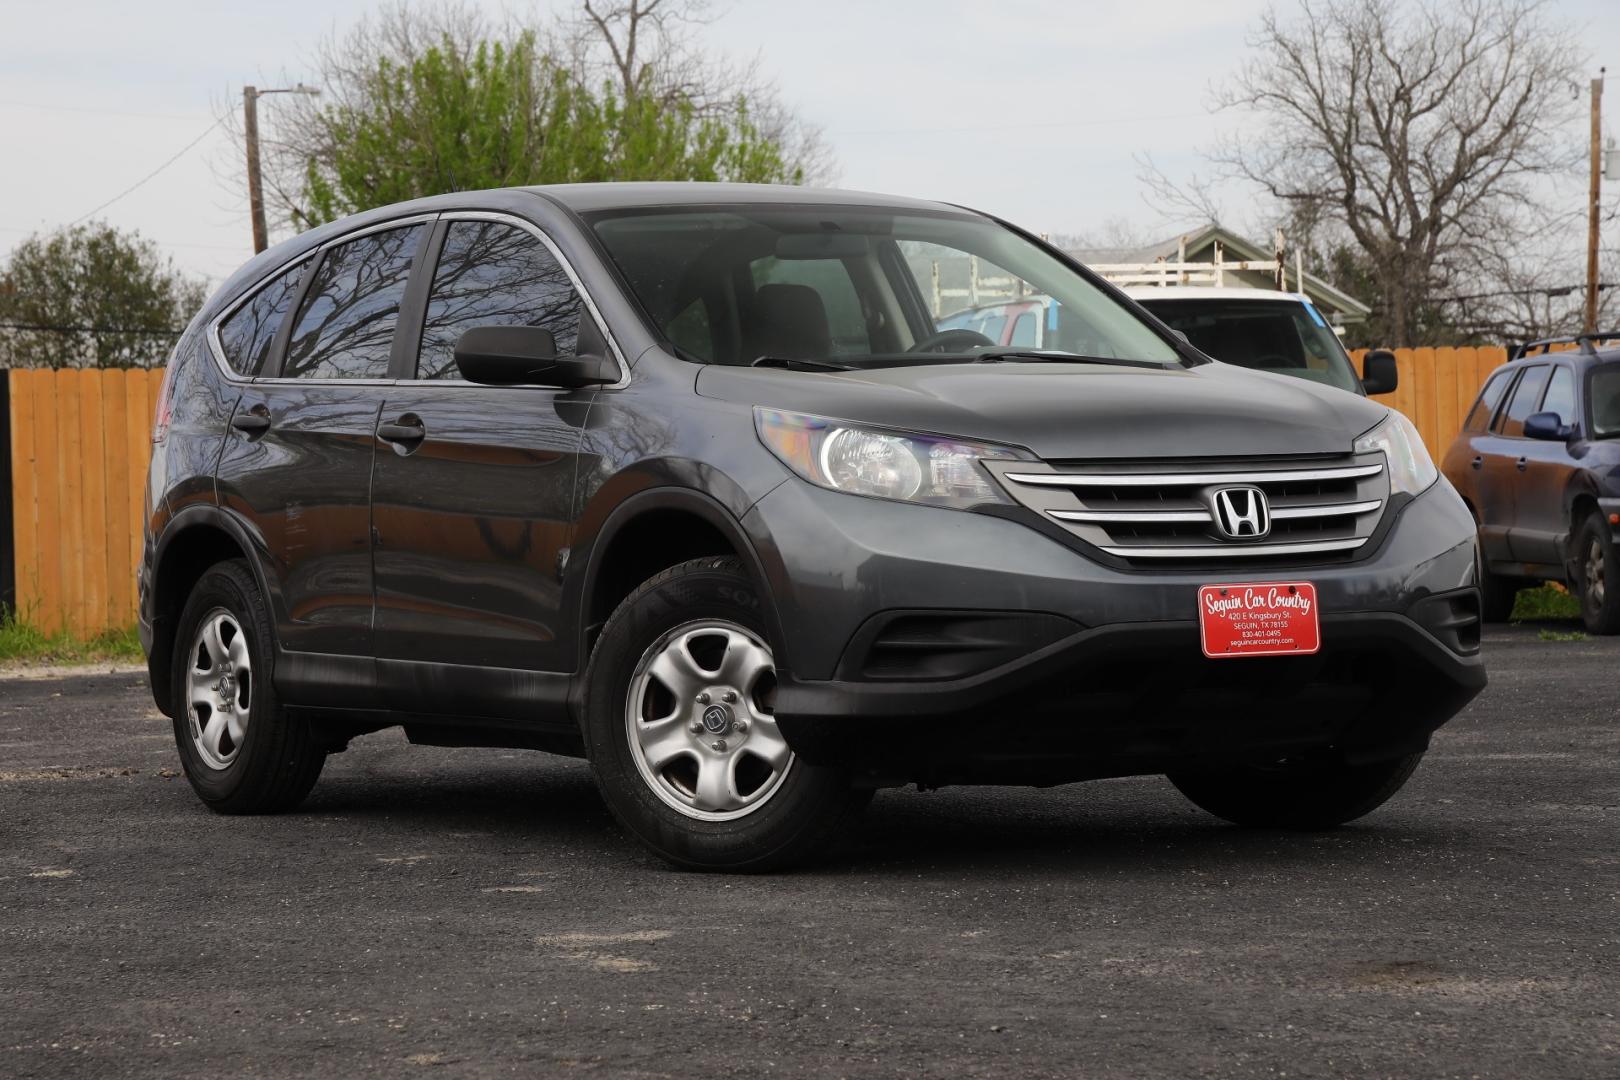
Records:
[[[282,648],[353,657],[364,670],[373,440],[400,303],[428,233],[420,220],[389,225],[318,253],[269,368],[243,389],[219,465],[222,504],[266,552]],[[332,680],[334,696],[343,685],[366,693],[345,677]]]

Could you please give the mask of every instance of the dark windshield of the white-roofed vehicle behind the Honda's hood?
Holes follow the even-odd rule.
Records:
[[[1298,300],[1158,298],[1139,303],[1215,359],[1361,392],[1338,335],[1311,304]]]

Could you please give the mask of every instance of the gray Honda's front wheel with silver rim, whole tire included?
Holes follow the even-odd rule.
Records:
[[[797,759],[776,730],[761,610],[735,559],[695,559],[635,589],[591,653],[596,785],[625,831],[676,866],[804,861],[872,798]]]

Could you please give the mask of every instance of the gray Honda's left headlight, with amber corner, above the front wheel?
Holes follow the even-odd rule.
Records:
[[[812,484],[957,510],[1008,502],[978,458],[1024,455],[982,442],[857,427],[825,416],[755,408],[760,440]]]

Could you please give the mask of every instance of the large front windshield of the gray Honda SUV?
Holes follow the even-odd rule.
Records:
[[[990,359],[993,350],[1181,363],[1103,290],[982,217],[731,206],[599,214],[591,227],[688,359],[870,368]],[[985,304],[996,313],[980,319]]]

